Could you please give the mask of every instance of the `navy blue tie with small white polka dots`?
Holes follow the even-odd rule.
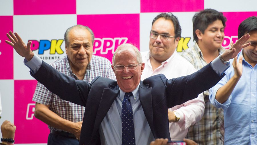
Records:
[[[135,143],[133,110],[129,97],[131,92],[125,93],[121,107],[122,145],[132,145]]]

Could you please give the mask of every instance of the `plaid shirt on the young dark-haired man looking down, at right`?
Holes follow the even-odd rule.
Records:
[[[223,47],[219,49],[219,54],[225,51]],[[202,52],[195,43],[181,53],[194,67],[199,70],[205,65]],[[224,112],[222,108],[214,107],[209,100],[209,90],[204,91],[205,110],[202,120],[190,126],[186,138],[194,140],[199,145],[222,145],[224,144]]]

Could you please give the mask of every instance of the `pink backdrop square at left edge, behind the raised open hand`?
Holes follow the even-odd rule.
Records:
[[[13,16],[0,16],[0,80],[13,79],[13,47],[5,43],[6,33],[13,31]]]

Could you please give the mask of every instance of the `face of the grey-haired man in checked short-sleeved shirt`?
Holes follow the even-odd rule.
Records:
[[[91,33],[87,29],[72,29],[68,34],[68,44],[65,49],[71,69],[87,68],[93,54]]]

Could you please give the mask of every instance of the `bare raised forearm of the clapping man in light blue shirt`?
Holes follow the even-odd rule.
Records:
[[[226,100],[228,100],[229,96],[234,90],[239,79],[240,79],[239,76],[234,75],[230,80],[228,80],[228,82],[224,86],[218,89],[215,99],[221,104],[226,102]]]

